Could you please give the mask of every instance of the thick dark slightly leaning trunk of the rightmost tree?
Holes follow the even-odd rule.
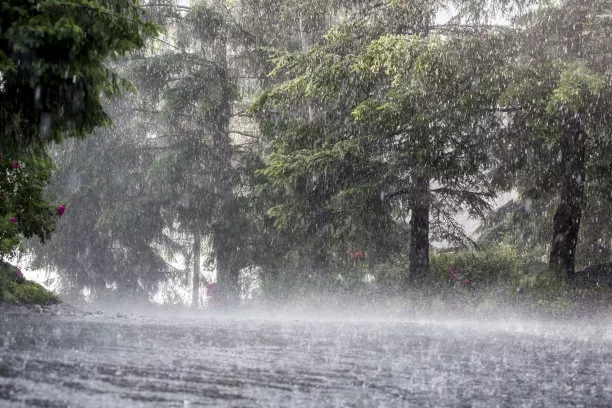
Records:
[[[576,247],[582,201],[584,197],[585,155],[587,135],[577,118],[570,119],[561,140],[563,179],[560,202],[553,221],[549,269],[555,276],[564,276],[566,282],[574,279]]]

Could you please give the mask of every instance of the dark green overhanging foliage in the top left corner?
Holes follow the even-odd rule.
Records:
[[[0,3],[3,153],[84,137],[110,123],[101,95],[129,87],[105,65],[158,28],[134,0]]]

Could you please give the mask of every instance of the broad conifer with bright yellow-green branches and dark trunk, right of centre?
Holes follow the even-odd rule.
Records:
[[[465,237],[452,215],[482,215],[492,196],[483,166],[498,123],[487,73],[505,41],[490,27],[436,25],[436,12],[427,2],[394,2],[358,13],[307,53],[279,56],[273,75],[286,81],[255,105],[287,123],[274,129],[265,170],[271,186],[296,186],[272,208],[277,221],[337,231],[340,220],[375,217],[364,227],[380,237],[410,211],[415,284],[427,277],[430,215],[435,236]],[[305,104],[316,106],[313,118],[300,116]],[[384,251],[379,244],[373,253]]]

